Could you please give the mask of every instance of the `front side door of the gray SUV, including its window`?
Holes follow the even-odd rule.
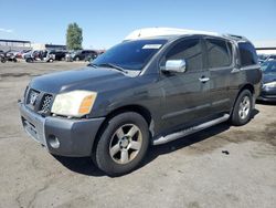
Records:
[[[210,76],[203,62],[202,40],[184,39],[173,45],[161,61],[185,60],[184,73],[161,73],[160,86],[164,93],[162,123],[166,128],[191,124],[210,115]]]

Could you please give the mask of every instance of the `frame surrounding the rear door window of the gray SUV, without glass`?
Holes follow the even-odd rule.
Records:
[[[208,46],[206,46],[206,40],[213,39],[213,40],[220,40],[220,41],[224,41],[227,48],[227,53],[230,53],[230,49],[227,46],[227,43],[230,43],[232,45],[232,54],[231,54],[231,63],[230,65],[226,66],[219,66],[219,67],[211,67],[209,64],[209,55],[208,55]],[[210,71],[217,71],[217,70],[229,70],[229,69],[233,69],[235,66],[235,44],[233,41],[227,40],[227,39],[223,39],[223,38],[215,38],[215,37],[204,37],[203,38],[203,42],[204,42],[204,53],[205,53],[205,58],[206,58],[206,65],[208,65],[208,70]]]

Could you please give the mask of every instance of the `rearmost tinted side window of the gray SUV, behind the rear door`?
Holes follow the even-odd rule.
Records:
[[[238,43],[242,66],[254,65],[258,63],[258,58],[254,46],[251,43]]]

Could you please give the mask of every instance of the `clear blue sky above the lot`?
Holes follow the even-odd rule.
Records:
[[[140,28],[168,27],[276,40],[276,0],[2,0],[0,39],[65,44],[68,23],[83,48],[108,49]]]

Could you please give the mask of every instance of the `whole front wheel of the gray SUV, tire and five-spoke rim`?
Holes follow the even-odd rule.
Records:
[[[109,176],[132,171],[142,162],[149,146],[149,128],[135,112],[121,113],[107,123],[93,153],[94,163]]]

